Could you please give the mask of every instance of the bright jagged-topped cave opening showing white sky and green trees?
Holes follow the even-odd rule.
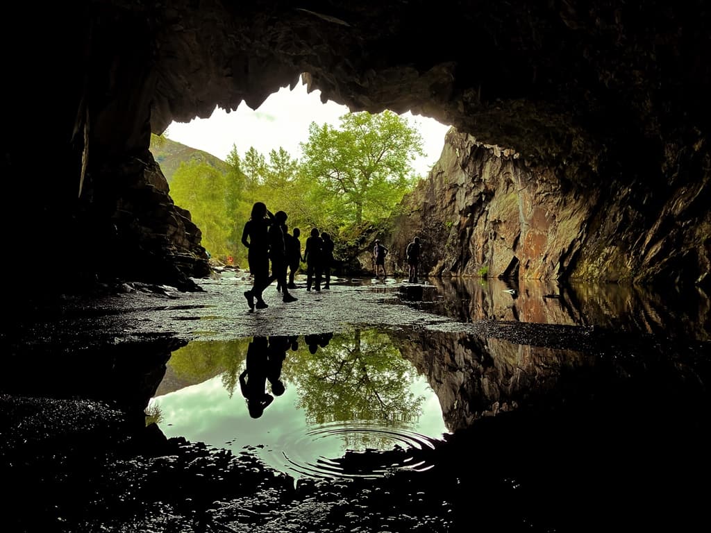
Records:
[[[383,177],[374,173],[374,177],[368,178],[380,180],[378,188],[372,188],[370,194],[379,195],[377,200],[385,208],[397,205],[405,192],[412,190],[419,179],[427,177],[442,154],[444,136],[449,130],[449,126],[434,119],[415,116],[410,112],[400,115],[383,112],[368,116],[384,117],[387,113],[419,134],[422,151],[408,155],[409,161],[402,159],[410,166],[407,176],[391,173]],[[367,210],[346,211],[348,206],[339,205],[336,201],[343,198],[350,201],[368,191],[342,192],[336,195],[340,198],[334,200],[332,187],[325,185],[320,192],[311,190],[315,180],[310,180],[309,190],[306,190],[306,185],[301,188],[294,186],[298,181],[304,183],[305,176],[309,181],[307,175],[313,176],[319,171],[317,165],[302,164],[307,160],[302,148],[313,138],[312,128],[341,130],[345,124],[343,117],[350,115],[346,106],[331,101],[322,102],[321,92],[309,92],[302,81],[293,89],[287,86],[272,93],[257,109],[251,109],[246,102],[242,102],[232,112],[217,107],[207,119],[173,122],[164,136],[153,137],[151,152],[166,176],[171,198],[176,205],[191,213],[193,222],[201,229],[203,247],[210,258],[226,265],[246,268],[246,248],[241,243],[241,232],[255,201],[267,203],[272,212],[287,212],[289,230],[301,227],[302,246],[311,227],[336,232],[349,225],[363,227],[365,224],[360,224],[361,220],[376,226],[374,222],[385,220],[385,214],[389,215],[385,208],[375,211],[378,217],[373,215],[373,210],[370,213]],[[374,121],[370,125],[373,129],[368,131],[382,132],[383,136],[390,133],[390,130],[383,128],[392,126],[391,123]],[[364,131],[366,129],[363,128]],[[326,140],[321,146],[329,150],[355,151],[360,142],[336,144],[338,139],[334,137],[331,140],[334,144],[328,144]],[[360,166],[363,158],[355,157],[351,161],[354,161],[353,168]],[[326,163],[321,161],[319,164]],[[383,166],[384,170],[389,168]],[[360,178],[355,173],[348,177],[354,181]],[[392,179],[395,183],[403,178],[407,181],[407,187],[398,184],[397,188],[388,189],[385,186],[385,181]],[[392,197],[384,196],[388,194]],[[383,202],[383,198],[387,203]],[[363,200],[363,203],[366,201]],[[370,201],[377,203],[373,198]],[[355,240],[350,237],[349,240]]]

